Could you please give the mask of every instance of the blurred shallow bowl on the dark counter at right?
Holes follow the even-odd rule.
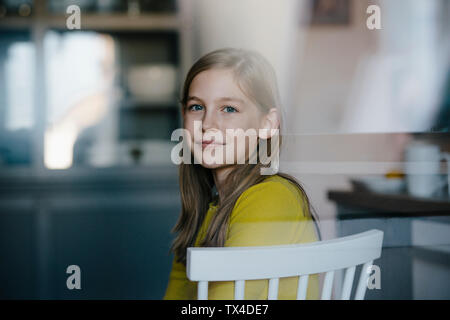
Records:
[[[403,178],[386,178],[384,176],[362,177],[352,179],[354,189],[365,189],[377,193],[398,193],[405,189]]]

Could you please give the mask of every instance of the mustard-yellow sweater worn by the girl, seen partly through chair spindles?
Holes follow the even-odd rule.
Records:
[[[225,247],[270,246],[317,241],[314,223],[309,212],[304,212],[300,191],[280,176],[270,176],[248,188],[236,201],[231,212]],[[199,229],[195,246],[205,236],[217,207],[210,204]],[[255,266],[257,268],[258,266]],[[298,277],[281,278],[278,299],[296,299]],[[232,300],[234,282],[210,282],[208,299]],[[245,299],[267,299],[268,280],[245,282]],[[307,299],[319,298],[318,275],[308,281]],[[186,277],[186,267],[175,259],[164,299],[197,299],[197,283]]]

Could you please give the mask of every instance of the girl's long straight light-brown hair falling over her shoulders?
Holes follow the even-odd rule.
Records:
[[[193,79],[202,71],[213,68],[224,68],[233,71],[238,86],[259,108],[266,113],[273,107],[279,111],[280,98],[275,72],[270,63],[259,53],[235,48],[223,48],[210,52],[197,60],[186,75],[180,99],[181,107],[185,108],[189,95],[189,88]],[[280,119],[280,127],[282,117]],[[281,146],[279,134],[278,147]],[[258,139],[259,140],[259,139]],[[267,139],[269,150],[271,139]],[[260,145],[258,144],[258,148]],[[276,150],[278,152],[279,150]],[[269,157],[273,154],[269,154]],[[192,155],[191,155],[192,157]],[[179,166],[179,184],[181,194],[181,214],[172,232],[177,233],[171,250],[177,261],[186,264],[186,249],[194,246],[198,230],[208,211],[209,204],[216,202],[217,211],[206,231],[202,247],[222,247],[227,238],[229,217],[240,195],[253,185],[262,182],[267,175],[261,174],[267,164],[257,161],[254,164],[236,165],[224,181],[223,197],[219,199],[212,193],[214,179],[210,169],[191,161],[190,164],[181,163]],[[318,219],[309,198],[302,185],[292,176],[276,173],[292,182],[299,190],[304,200],[303,212],[310,215],[317,225]],[[320,229],[317,227],[320,239]]]

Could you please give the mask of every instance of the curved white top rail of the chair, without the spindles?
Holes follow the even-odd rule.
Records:
[[[381,256],[383,232],[302,244],[187,249],[191,281],[256,280],[322,273],[356,266]]]

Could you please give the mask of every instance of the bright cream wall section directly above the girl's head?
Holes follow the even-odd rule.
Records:
[[[283,104],[290,105],[305,5],[297,0],[194,0],[194,59],[223,47],[256,50],[273,65]]]

